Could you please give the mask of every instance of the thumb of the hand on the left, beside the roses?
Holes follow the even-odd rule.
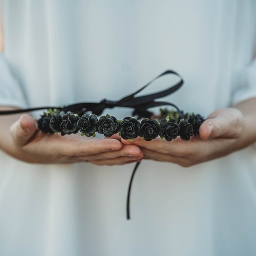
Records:
[[[37,130],[37,122],[27,114],[20,116],[10,128],[12,139],[17,146],[26,145]]]

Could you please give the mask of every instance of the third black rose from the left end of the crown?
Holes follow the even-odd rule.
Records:
[[[62,115],[61,122],[61,135],[77,133],[79,131],[77,121],[80,119],[79,116],[68,111]]]

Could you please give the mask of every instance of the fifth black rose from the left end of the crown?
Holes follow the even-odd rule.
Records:
[[[111,137],[119,132],[119,122],[114,116],[101,116],[98,121],[98,132]]]

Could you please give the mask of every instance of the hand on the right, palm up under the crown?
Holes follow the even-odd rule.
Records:
[[[252,122],[237,108],[224,108],[214,111],[200,127],[200,137],[183,141],[178,137],[171,142],[155,139],[147,142],[142,138],[121,140],[125,145],[137,145],[143,150],[144,158],[177,163],[188,167],[197,163],[225,156],[249,145],[255,135],[249,131]],[[255,127],[254,113],[254,127]],[[255,131],[255,128],[254,128]]]

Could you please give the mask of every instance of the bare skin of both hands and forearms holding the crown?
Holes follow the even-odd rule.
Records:
[[[0,52],[3,51],[3,29],[0,17]],[[14,109],[0,107],[0,110]],[[188,142],[171,143],[142,138],[121,140],[118,135],[100,140],[81,138],[79,134],[49,135],[38,130],[32,116],[0,116],[0,148],[13,157],[29,163],[91,162],[115,165],[145,159],[177,163],[188,167],[244,148],[256,141],[256,98],[234,108],[211,113],[200,127],[200,136]],[[68,145],[68,146],[67,146]]]

